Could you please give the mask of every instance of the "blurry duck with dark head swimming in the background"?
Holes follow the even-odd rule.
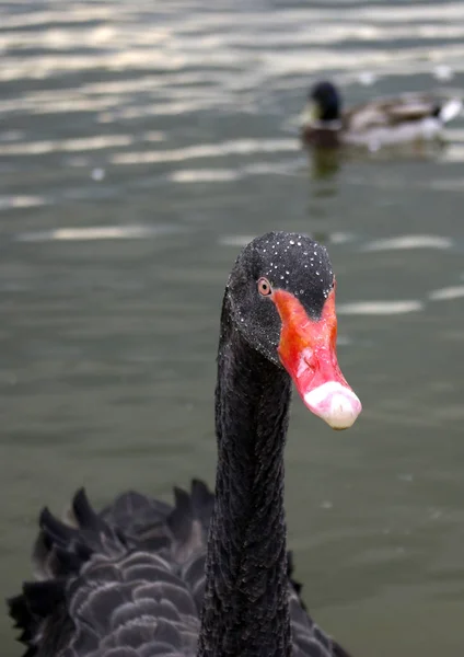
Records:
[[[344,110],[340,91],[320,81],[309,93],[301,116],[301,136],[308,146],[352,146],[375,151],[411,142],[438,140],[443,127],[462,111],[459,99],[409,93]]]

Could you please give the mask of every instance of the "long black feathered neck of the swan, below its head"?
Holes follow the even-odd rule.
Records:
[[[290,390],[287,372],[234,328],[225,297],[200,657],[291,654],[283,511]]]

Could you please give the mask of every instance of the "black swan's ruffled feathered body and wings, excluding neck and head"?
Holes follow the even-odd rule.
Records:
[[[37,580],[9,600],[24,657],[196,655],[213,495],[194,480],[174,505],[129,492],[96,514],[83,489],[66,521],[44,509]],[[349,657],[308,614],[288,558],[294,657]]]

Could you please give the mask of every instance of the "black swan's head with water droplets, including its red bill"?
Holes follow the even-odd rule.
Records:
[[[250,346],[287,370],[314,415],[346,429],[362,407],[338,366],[335,287],[324,246],[272,232],[242,251],[225,293]]]

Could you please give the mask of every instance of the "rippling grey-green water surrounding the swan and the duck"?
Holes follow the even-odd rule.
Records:
[[[314,162],[295,118],[322,76],[352,103],[462,88],[464,5],[208,7],[0,4],[1,592],[43,504],[213,481],[228,273],[251,237],[304,231],[329,247],[364,405],[337,435],[294,404],[305,599],[357,656],[457,655],[464,120],[438,153]],[[0,633],[19,655],[4,614]]]

